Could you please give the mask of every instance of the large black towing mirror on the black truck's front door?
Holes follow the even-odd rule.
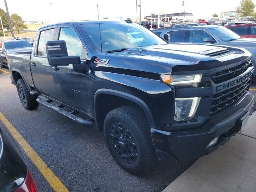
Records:
[[[46,54],[50,66],[68,66],[81,63],[79,56],[68,56],[64,40],[46,42]]]

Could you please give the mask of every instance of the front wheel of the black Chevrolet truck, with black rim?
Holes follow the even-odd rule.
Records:
[[[139,174],[156,159],[150,126],[144,112],[134,106],[121,106],[110,111],[104,120],[108,150],[126,171]]]

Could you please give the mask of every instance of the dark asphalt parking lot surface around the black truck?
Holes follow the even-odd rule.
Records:
[[[103,133],[82,127],[39,105],[25,110],[10,74],[0,74],[0,112],[70,191],[162,191],[195,160],[159,162],[142,176],[122,170],[108,152]],[[256,83],[250,92],[256,96]],[[256,110],[256,102],[253,110]],[[39,191],[54,191],[25,154]]]

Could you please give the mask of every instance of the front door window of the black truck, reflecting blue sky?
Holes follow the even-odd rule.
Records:
[[[81,59],[86,59],[86,50],[76,34],[76,32],[69,27],[62,27],[60,29],[59,40],[64,40],[66,42],[68,56],[80,56]]]

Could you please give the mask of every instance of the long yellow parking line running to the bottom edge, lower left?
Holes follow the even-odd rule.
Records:
[[[50,170],[50,168],[45,164],[45,162],[36,154],[36,152],[29,146],[29,144],[24,140],[20,133],[12,126],[12,124],[5,118],[5,116],[0,112],[0,120],[5,124],[8,130],[11,132],[12,136],[17,140],[38,170],[42,173],[44,178],[48,181],[50,186],[56,192],[68,192],[68,189],[59,180],[59,178]]]

